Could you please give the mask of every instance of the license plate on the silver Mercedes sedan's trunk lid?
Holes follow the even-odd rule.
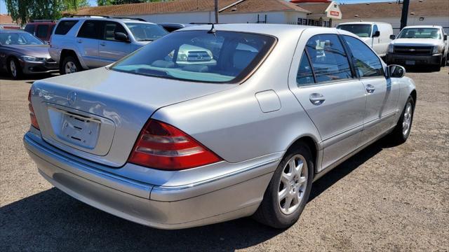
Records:
[[[70,144],[83,148],[95,148],[100,123],[91,118],[65,113],[62,116],[60,137]]]

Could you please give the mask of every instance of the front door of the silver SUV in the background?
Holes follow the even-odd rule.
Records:
[[[118,22],[102,22],[102,37],[99,46],[99,54],[103,65],[116,62],[131,52],[131,44],[129,42],[117,41],[114,38],[116,32],[122,32],[129,37],[125,28]]]

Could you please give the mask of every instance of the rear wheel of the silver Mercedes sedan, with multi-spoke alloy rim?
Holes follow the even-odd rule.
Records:
[[[292,172],[292,160],[295,161],[296,174]],[[300,143],[292,151],[288,151],[279,163],[253,218],[272,228],[289,228],[295,224],[309,200],[313,176],[311,151],[306,144]],[[281,192],[285,192],[282,193],[285,196],[279,197]]]

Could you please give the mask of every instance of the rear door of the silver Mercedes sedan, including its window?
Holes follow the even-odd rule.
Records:
[[[304,31],[295,57],[300,57],[300,62],[290,71],[295,75],[289,78],[290,90],[321,135],[324,169],[357,148],[363,129],[365,90],[354,78],[337,34]]]

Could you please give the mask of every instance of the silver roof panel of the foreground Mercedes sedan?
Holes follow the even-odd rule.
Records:
[[[182,29],[182,31],[209,30],[211,27],[212,25],[194,25],[192,27],[186,27]],[[217,31],[237,31],[237,32],[248,32],[253,34],[267,34],[272,36],[282,36],[286,32],[300,32],[304,29],[314,28],[306,25],[283,25],[283,24],[222,24],[222,25],[214,25],[214,27],[215,30]],[[323,29],[323,27],[316,27],[316,28]],[[335,29],[335,28],[324,28],[324,29]]]

